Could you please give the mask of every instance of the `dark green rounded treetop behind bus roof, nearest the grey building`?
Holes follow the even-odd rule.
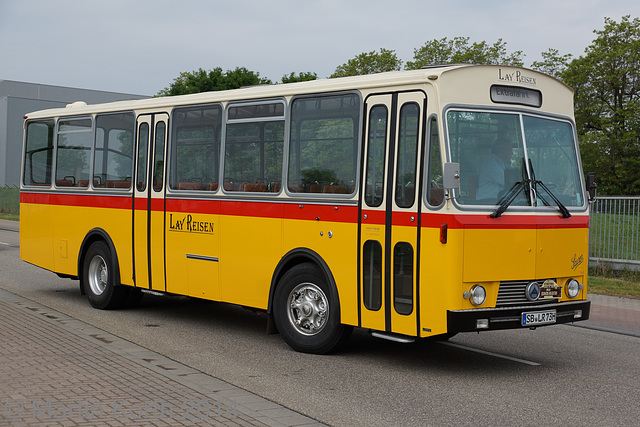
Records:
[[[157,96],[238,89],[260,84],[271,84],[271,80],[261,78],[260,73],[249,71],[244,67],[236,67],[235,70],[227,70],[226,73],[220,67],[209,71],[200,68],[197,71],[180,73],[171,86],[162,89]]]

